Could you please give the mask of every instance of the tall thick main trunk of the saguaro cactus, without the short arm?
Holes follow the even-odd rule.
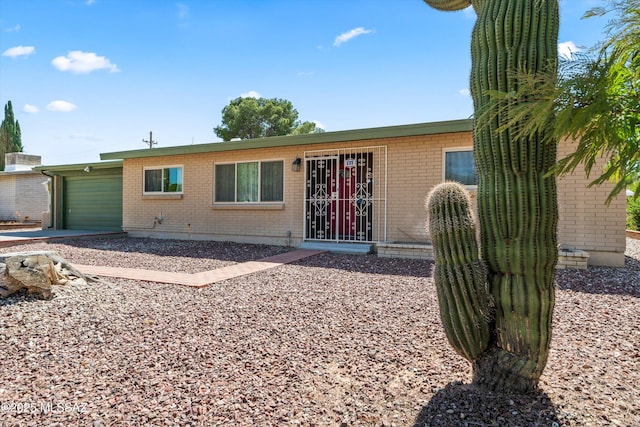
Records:
[[[542,134],[517,137],[504,126],[511,107],[490,94],[515,91],[518,72],[555,75],[558,1],[424,1],[440,10],[473,5],[478,15],[471,37],[473,140],[481,254],[495,320],[486,350],[470,358],[474,383],[530,391],[537,387],[551,340],[558,210],[555,179],[547,173],[556,144]],[[440,245],[433,241],[434,247]],[[437,263],[441,251],[435,252]],[[452,301],[441,299],[441,310],[445,303]]]

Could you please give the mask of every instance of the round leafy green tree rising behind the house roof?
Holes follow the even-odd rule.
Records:
[[[286,99],[233,99],[222,109],[222,124],[213,128],[223,141],[320,132],[313,122],[300,122]]]

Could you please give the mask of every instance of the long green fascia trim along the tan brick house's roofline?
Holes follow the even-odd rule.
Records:
[[[311,133],[306,135],[273,136],[269,138],[247,139],[232,142],[214,142],[209,144],[118,151],[112,153],[101,153],[100,158],[102,160],[137,159],[143,157],[175,156],[180,154],[199,154],[220,151],[250,150],[256,148],[286,147],[293,145],[326,144],[331,142],[359,141],[365,139],[470,132],[472,129],[473,120],[463,119],[402,126]]]

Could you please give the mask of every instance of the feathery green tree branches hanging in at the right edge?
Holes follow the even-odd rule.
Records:
[[[575,141],[553,171],[562,176],[580,165],[588,177],[597,171],[589,185],[615,183],[610,203],[640,180],[640,0],[613,0],[584,18],[606,15],[613,15],[606,39],[586,53],[561,58],[557,79],[518,70],[517,90],[490,95],[508,106],[504,127],[517,126],[519,136],[539,133],[553,121],[546,135]]]

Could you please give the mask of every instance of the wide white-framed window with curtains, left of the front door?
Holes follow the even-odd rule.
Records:
[[[284,201],[284,160],[214,165],[215,203]]]

